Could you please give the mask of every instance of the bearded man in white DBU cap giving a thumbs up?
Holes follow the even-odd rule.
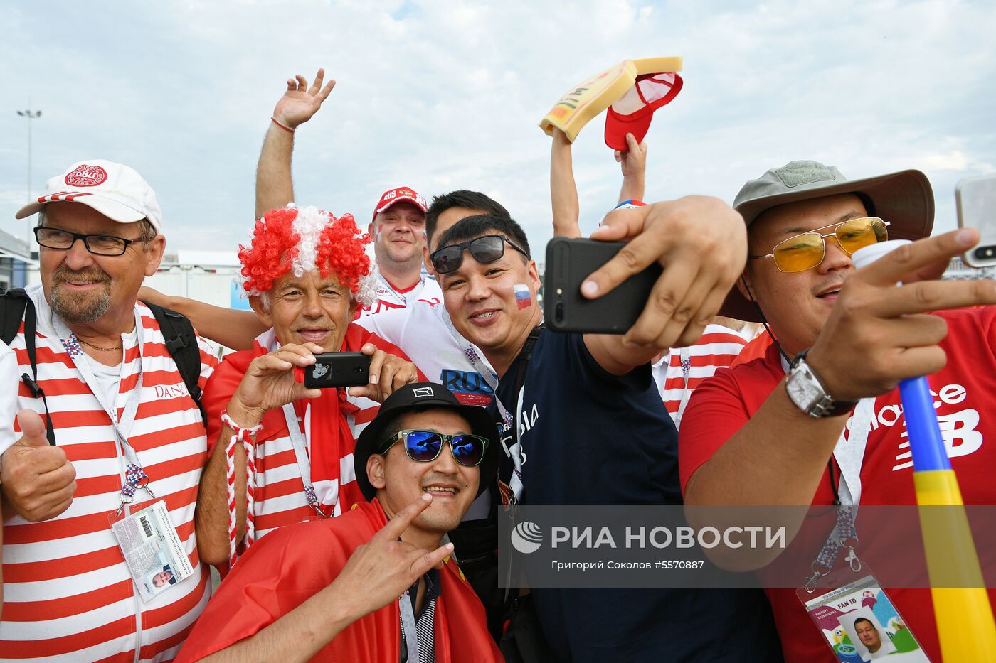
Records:
[[[162,214],[137,172],[105,160],[51,178],[17,218],[36,213],[42,283],[26,289],[24,318],[35,329],[11,341],[16,369],[2,374],[20,412],[0,458],[0,652],[168,660],[210,588],[194,536],[204,422],[156,318],[135,299],[162,257]],[[202,387],[217,360],[188,340]],[[147,564],[129,572],[112,523],[162,503],[173,532],[160,534],[176,537],[192,572],[146,597]]]

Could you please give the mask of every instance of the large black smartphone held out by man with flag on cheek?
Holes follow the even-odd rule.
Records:
[[[581,284],[612,260],[625,242],[555,237],[547,244],[543,313],[554,331],[625,333],[635,324],[663,268],[654,263],[597,300],[581,294]]]

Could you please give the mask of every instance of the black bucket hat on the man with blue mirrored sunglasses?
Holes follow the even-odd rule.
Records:
[[[484,460],[480,465],[480,482],[477,486],[477,495],[480,496],[490,485],[489,477],[495,476],[498,472],[498,447],[501,438],[498,435],[498,425],[488,411],[477,405],[464,405],[453,392],[441,384],[435,382],[413,382],[405,384],[392,394],[387,396],[380,406],[376,417],[360,433],[357,439],[357,448],[353,452],[353,467],[357,474],[357,484],[360,491],[368,500],[373,500],[376,496],[376,489],[373,488],[370,479],[367,477],[367,460],[375,453],[383,443],[384,426],[391,421],[395,415],[410,410],[441,408],[456,412],[467,420],[470,424],[470,432],[480,435],[488,440],[488,448],[484,452]],[[441,449],[439,453],[449,453]]]

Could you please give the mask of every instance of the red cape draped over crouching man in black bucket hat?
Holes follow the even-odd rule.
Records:
[[[338,518],[287,526],[239,560],[194,625],[176,657],[188,663],[250,637],[328,586],[350,555],[387,523],[379,503],[365,502]],[[504,660],[488,634],[481,605],[456,562],[439,572],[435,656],[439,663]],[[355,621],[313,661],[397,663],[401,633],[397,602]]]

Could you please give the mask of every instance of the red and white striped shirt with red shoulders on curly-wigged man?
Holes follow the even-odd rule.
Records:
[[[372,342],[386,352],[407,359],[407,356],[395,345],[355,324],[351,324],[347,331],[343,349],[359,351],[367,342]],[[228,401],[238,388],[249,363],[276,347],[274,331],[264,331],[256,338],[252,349],[225,355],[218,370],[208,382],[203,402],[208,415],[208,437],[212,449],[221,433],[221,412],[228,407]],[[419,379],[425,378],[419,374]],[[321,470],[315,463],[311,464],[310,479],[318,493],[323,512],[334,516],[349,511],[357,502],[365,501],[353,467],[353,449],[356,446],[354,440],[380,409],[380,404],[369,398],[348,396],[347,401],[351,410],[347,420],[353,430],[353,439],[346,441],[347,444],[340,448],[338,476],[321,476]],[[297,423],[300,426],[299,430],[305,436],[307,453],[311,458],[313,457],[310,434],[311,405],[303,404],[302,401],[297,403],[299,404]],[[255,437],[254,452],[256,490],[253,515],[257,541],[285,525],[315,518],[315,512],[309,507],[305,496],[301,468],[294,452],[294,444],[283,409],[268,410],[263,416],[262,426],[262,430]],[[224,448],[218,449],[216,453],[224,453]]]

